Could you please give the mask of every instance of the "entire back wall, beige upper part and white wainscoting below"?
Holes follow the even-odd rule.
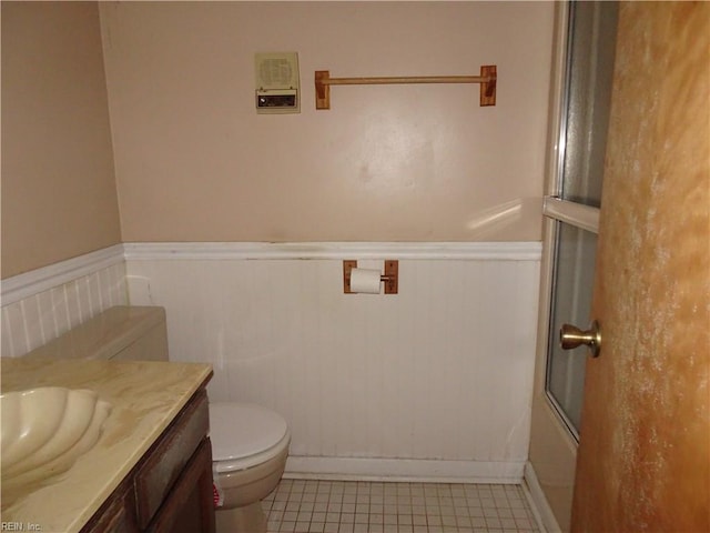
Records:
[[[282,412],[291,473],[520,481],[552,6],[100,10],[130,298],[166,308],[171,356],[214,364],[211,398]],[[255,113],[253,54],[270,50],[300,54],[300,114]],[[476,86],[313,104],[316,69],[490,63],[494,108]],[[343,259],[385,258],[400,259],[397,296],[343,294]]]

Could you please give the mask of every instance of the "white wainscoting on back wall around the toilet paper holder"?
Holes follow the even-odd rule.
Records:
[[[125,244],[132,304],[213,400],[292,430],[290,472],[520,482],[539,243]],[[363,259],[366,258],[366,259]],[[399,294],[343,294],[342,259],[399,259]]]

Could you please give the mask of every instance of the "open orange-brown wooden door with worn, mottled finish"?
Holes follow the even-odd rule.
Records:
[[[709,74],[710,3],[621,4],[576,532],[710,531]]]

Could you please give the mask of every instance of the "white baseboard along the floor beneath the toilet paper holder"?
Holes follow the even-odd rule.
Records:
[[[296,455],[288,456],[284,477],[519,484],[523,481],[524,467],[524,461],[438,461]]]

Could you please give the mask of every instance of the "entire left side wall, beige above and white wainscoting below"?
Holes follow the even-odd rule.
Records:
[[[2,2],[2,356],[128,303],[99,9]]]

